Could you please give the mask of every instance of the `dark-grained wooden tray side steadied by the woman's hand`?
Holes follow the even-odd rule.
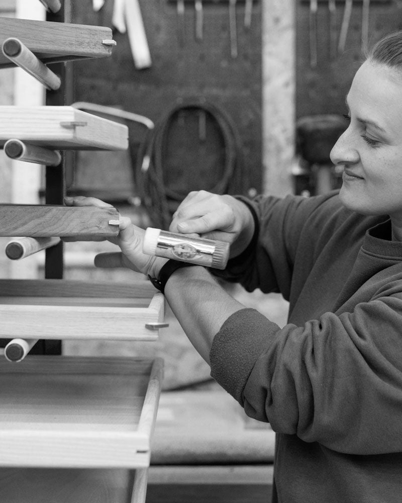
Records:
[[[0,204],[0,236],[111,237],[119,233],[119,211],[110,206]]]

